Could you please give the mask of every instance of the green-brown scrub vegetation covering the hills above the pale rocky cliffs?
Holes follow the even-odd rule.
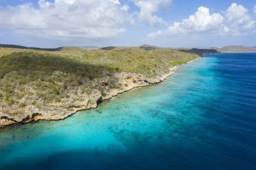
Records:
[[[170,49],[107,48],[84,50],[65,47],[56,51],[0,48],[0,111],[15,106],[60,103],[70,95],[120,87],[116,73],[158,77],[174,65],[195,59],[195,54]],[[125,85],[127,86],[127,84]],[[72,91],[72,92],[70,92]]]

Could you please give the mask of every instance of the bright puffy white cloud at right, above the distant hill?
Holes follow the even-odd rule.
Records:
[[[248,34],[256,28],[255,20],[243,5],[232,3],[222,14],[210,13],[207,7],[199,7],[197,11],[182,22],[175,22],[167,30],[148,34],[149,38],[159,36],[179,36],[184,34]]]

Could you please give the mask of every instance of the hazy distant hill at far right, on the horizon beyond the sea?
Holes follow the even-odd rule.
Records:
[[[224,46],[224,47],[214,47],[214,50],[218,52],[256,52],[256,47],[250,46]]]

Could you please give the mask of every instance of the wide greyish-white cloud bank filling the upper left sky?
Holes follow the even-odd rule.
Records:
[[[112,38],[125,32],[129,19],[129,7],[119,0],[39,0],[38,5],[2,8],[0,29],[43,37]]]

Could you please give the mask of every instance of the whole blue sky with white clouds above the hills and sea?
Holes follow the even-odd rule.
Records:
[[[0,0],[0,44],[256,46],[255,0]]]

